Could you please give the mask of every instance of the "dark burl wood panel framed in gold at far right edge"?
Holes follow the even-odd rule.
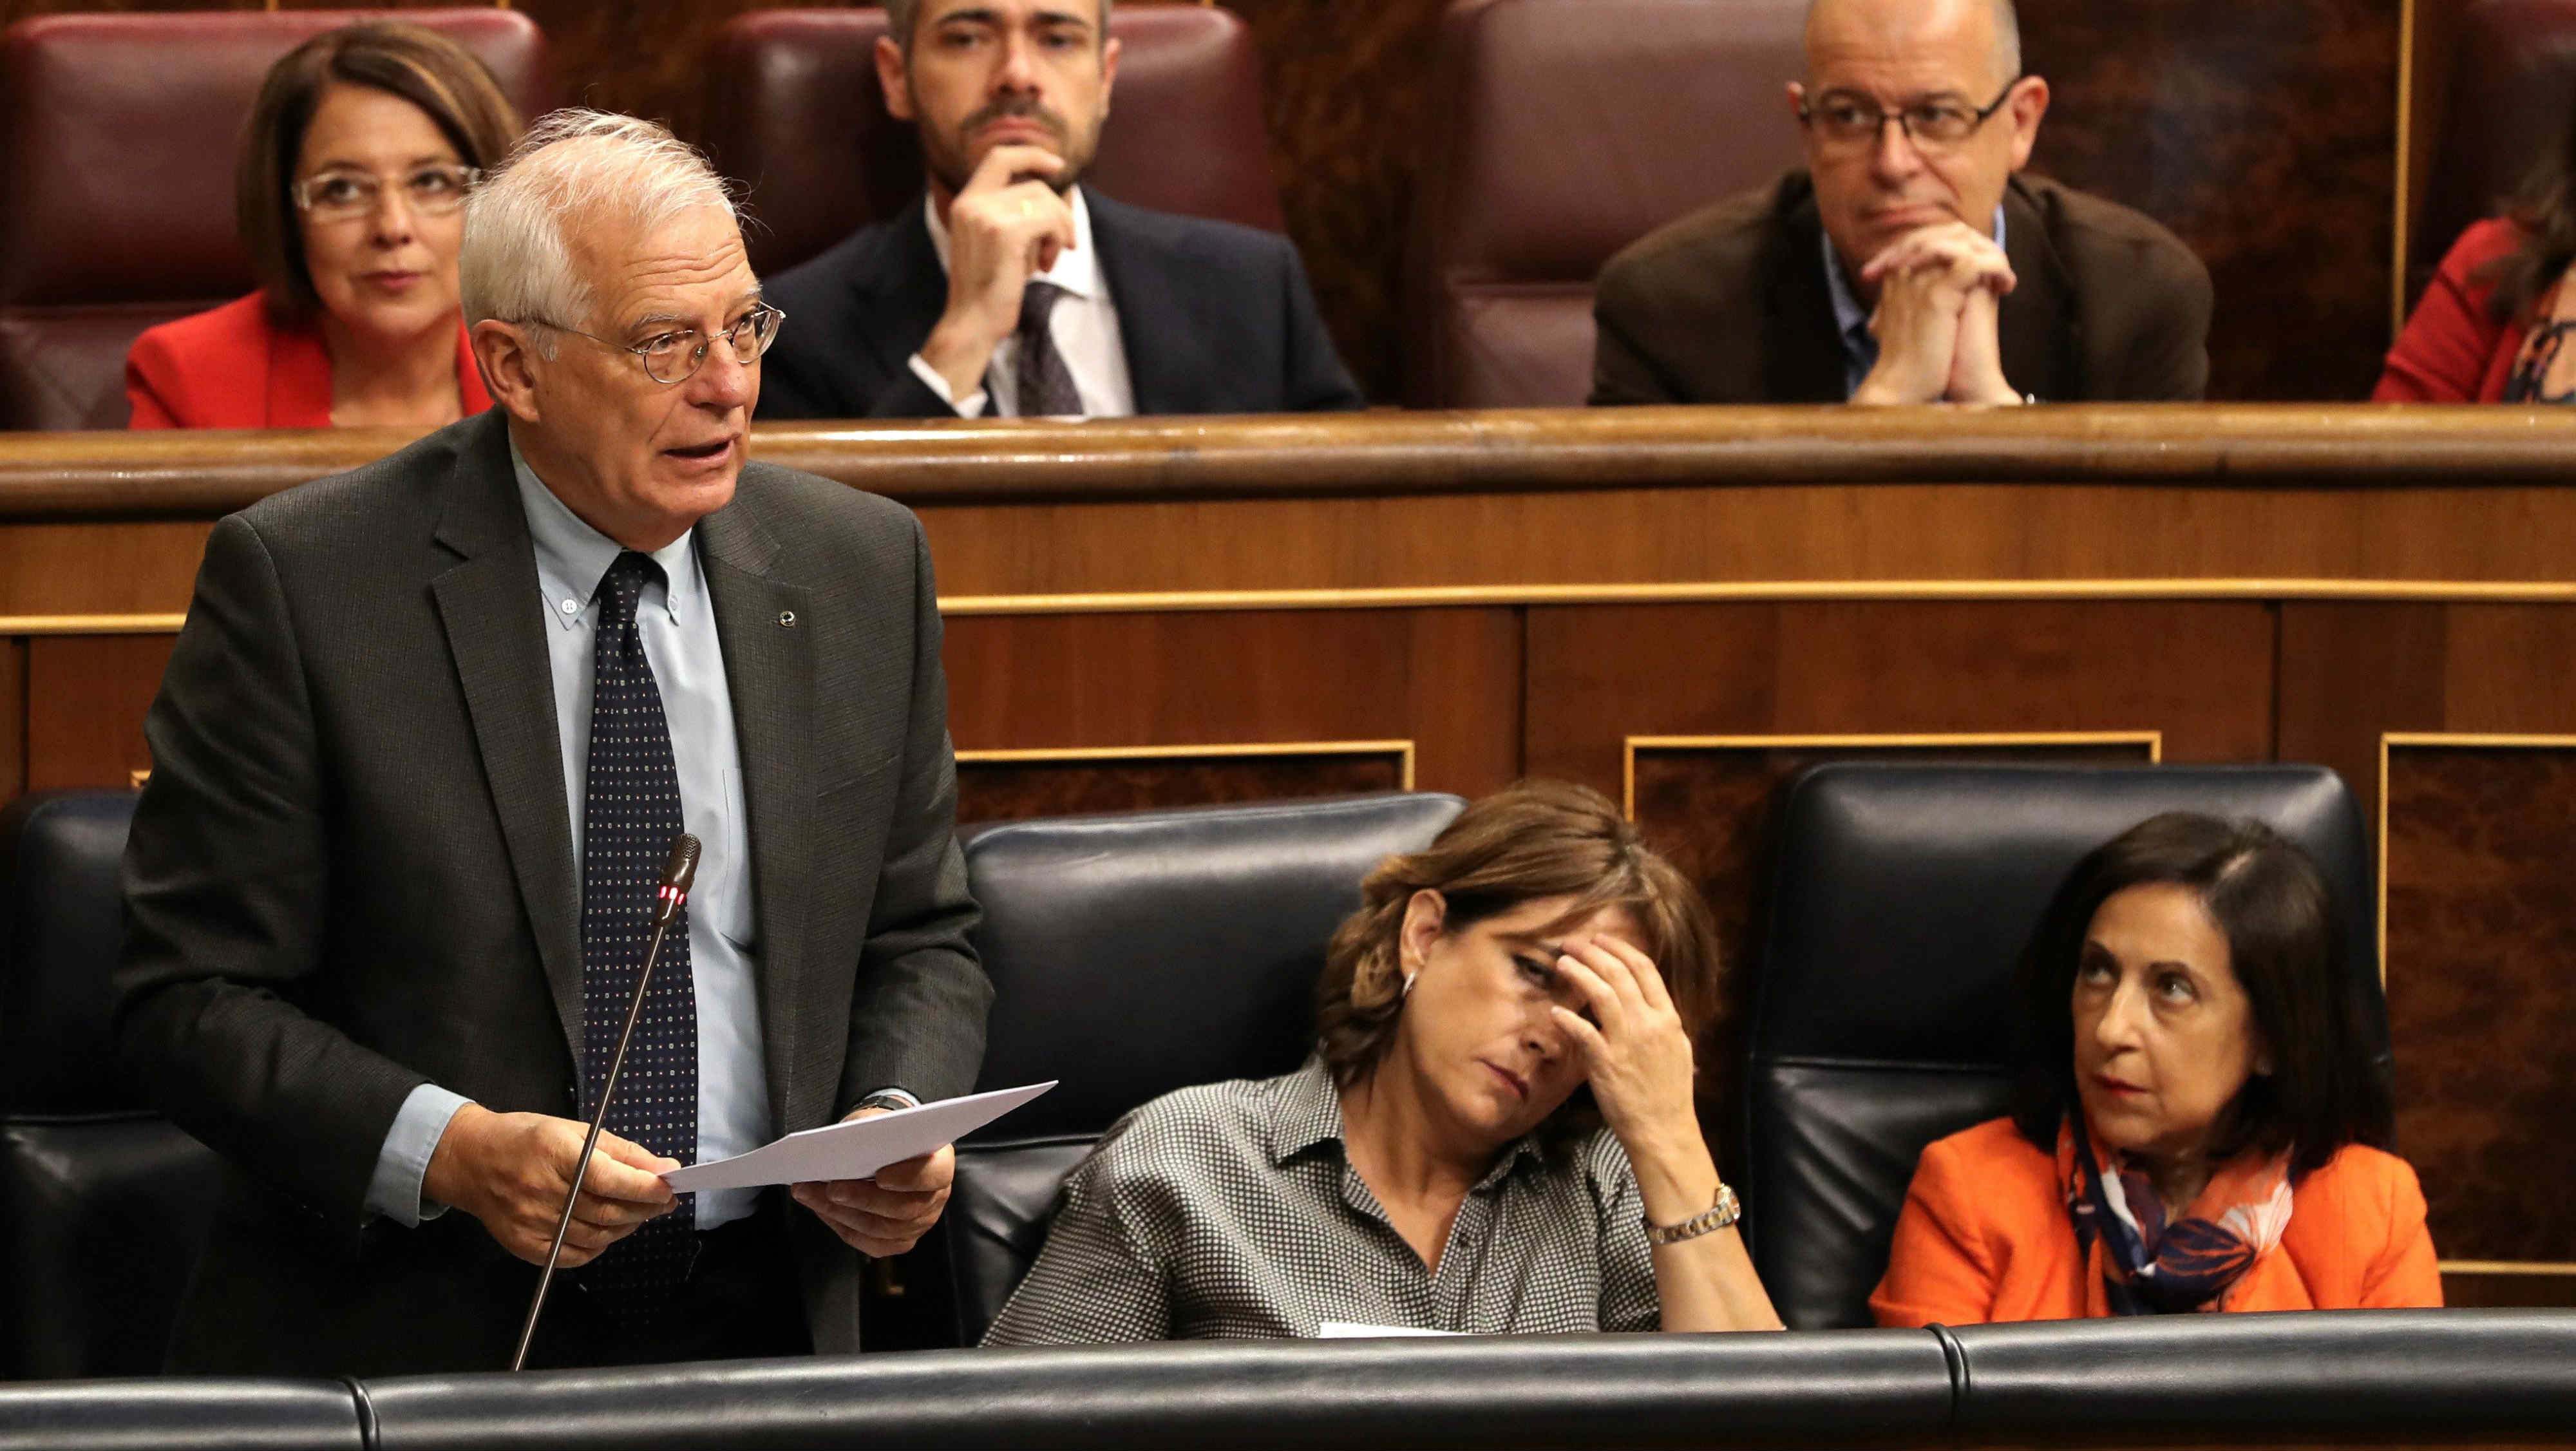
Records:
[[[2398,1149],[2450,1260],[2576,1265],[2576,737],[2388,747]],[[2561,1291],[2576,1291],[2568,1276]]]

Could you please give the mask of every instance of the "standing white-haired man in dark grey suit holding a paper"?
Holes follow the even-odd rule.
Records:
[[[538,121],[459,276],[497,407],[224,518],[144,727],[118,1049],[234,1170],[173,1366],[507,1363],[680,830],[533,1363],[855,1350],[853,1250],[938,1219],[948,1149],[657,1175],[974,1082],[920,523],[747,464],[781,314],[659,126]]]

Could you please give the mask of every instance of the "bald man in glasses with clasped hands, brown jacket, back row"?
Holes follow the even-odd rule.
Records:
[[[1806,168],[1602,268],[1592,402],[2197,399],[2210,273],[2020,175],[2048,82],[2012,0],[1814,0]]]

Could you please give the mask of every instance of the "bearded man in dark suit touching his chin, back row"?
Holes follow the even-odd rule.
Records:
[[[1108,8],[886,5],[876,72],[930,186],[770,278],[796,332],[760,418],[1360,407],[1285,237],[1082,186],[1118,80]]]

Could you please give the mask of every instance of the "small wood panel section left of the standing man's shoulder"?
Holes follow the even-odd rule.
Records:
[[[26,642],[26,789],[124,789],[152,768],[144,709],[170,665],[167,634]]]

